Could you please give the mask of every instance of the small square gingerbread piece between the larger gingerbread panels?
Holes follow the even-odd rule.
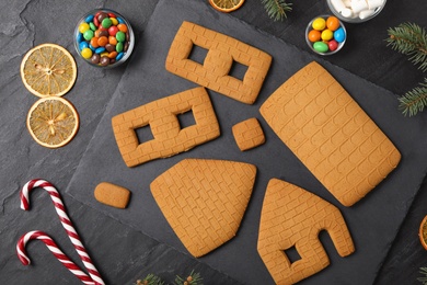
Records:
[[[235,124],[232,127],[235,144],[240,150],[249,150],[265,142],[265,136],[259,122],[255,118],[249,118]]]

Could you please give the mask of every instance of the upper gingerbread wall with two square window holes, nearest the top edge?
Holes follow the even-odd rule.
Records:
[[[208,49],[203,65],[189,58],[194,45]],[[240,80],[233,61],[247,66]],[[246,104],[253,104],[272,64],[263,50],[194,23],[183,22],[169,50],[166,70]]]

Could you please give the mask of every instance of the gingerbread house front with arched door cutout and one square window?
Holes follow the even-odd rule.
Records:
[[[261,213],[257,250],[276,284],[295,284],[330,264],[319,232],[327,231],[341,256],[355,247],[337,207],[278,179],[268,182]],[[291,262],[286,250],[300,258]]]

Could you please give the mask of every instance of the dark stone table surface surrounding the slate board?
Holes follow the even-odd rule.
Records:
[[[66,3],[53,0],[19,0],[3,1],[1,4],[0,284],[80,284],[41,242],[27,246],[32,259],[31,266],[23,266],[19,262],[15,254],[18,239],[24,232],[37,228],[55,232],[55,240],[61,244],[64,252],[72,260],[79,260],[55,216],[51,201],[46,193],[42,191],[33,193],[34,205],[31,212],[25,213],[19,207],[19,191],[26,181],[34,178],[49,180],[58,190],[67,187],[107,102],[126,70],[126,64],[115,69],[100,70],[78,58],[72,44],[77,20],[89,10],[111,8],[128,18],[138,38],[138,35],[143,33],[157,2],[77,0]],[[304,31],[312,18],[330,12],[326,1],[289,2],[292,2],[292,11],[282,22],[269,19],[261,0],[246,0],[230,15],[310,52],[301,31]],[[192,1],[188,1],[188,4],[192,4]],[[422,0],[389,0],[381,14],[373,20],[361,24],[346,24],[348,38],[344,49],[322,59],[390,90],[397,100],[399,95],[422,82],[425,75],[408,61],[407,57],[386,46],[386,31],[403,22],[413,22],[426,27],[426,9],[427,2]],[[48,42],[60,44],[70,50],[79,68],[76,87],[66,98],[79,110],[80,130],[70,145],[57,150],[45,149],[30,137],[25,117],[37,98],[25,89],[19,73],[24,54],[35,45]],[[402,116],[402,119],[411,118]],[[155,273],[172,283],[175,274],[185,275],[193,269],[201,273],[205,284],[234,283],[221,272],[81,204],[69,195],[64,194],[62,198],[107,284],[132,284],[148,273]],[[419,267],[427,266],[427,252],[418,239],[419,224],[427,214],[424,204],[426,201],[425,180],[419,185],[419,192],[391,246],[376,284],[419,283],[417,281],[417,277],[422,276]],[[99,232],[96,240],[85,238],[94,231]],[[108,251],[100,252],[101,244]]]

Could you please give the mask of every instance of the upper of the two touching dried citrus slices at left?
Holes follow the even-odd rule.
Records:
[[[37,96],[61,96],[76,82],[76,61],[59,45],[38,45],[30,49],[22,59],[21,78],[26,89]]]

